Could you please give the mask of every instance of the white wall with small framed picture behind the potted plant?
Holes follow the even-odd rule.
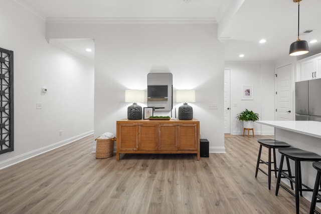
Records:
[[[260,120],[274,120],[274,63],[273,62],[225,62],[231,69],[231,127],[232,134],[243,134],[243,124],[236,115],[246,108],[258,113]],[[241,99],[242,85],[252,85],[253,100]],[[254,125],[254,133],[273,134],[271,127]]]

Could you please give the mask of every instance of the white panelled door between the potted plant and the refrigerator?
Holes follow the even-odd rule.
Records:
[[[292,66],[276,68],[275,120],[293,120]]]

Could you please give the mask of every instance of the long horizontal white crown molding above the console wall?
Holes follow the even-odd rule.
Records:
[[[47,24],[217,24],[214,18],[47,18]]]

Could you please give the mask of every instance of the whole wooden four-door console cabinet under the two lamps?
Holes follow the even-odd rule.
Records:
[[[200,121],[118,120],[116,160],[120,153],[196,153],[200,159]]]

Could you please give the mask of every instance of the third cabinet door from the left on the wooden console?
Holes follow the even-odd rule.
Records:
[[[177,125],[159,124],[159,150],[177,151]]]

